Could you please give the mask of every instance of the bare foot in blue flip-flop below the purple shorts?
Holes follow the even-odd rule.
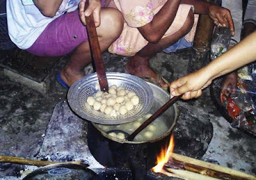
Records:
[[[74,82],[84,77],[83,72],[75,72],[69,68],[63,68],[60,72],[61,79],[70,87]]]

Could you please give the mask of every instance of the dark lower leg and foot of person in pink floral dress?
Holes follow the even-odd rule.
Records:
[[[189,11],[188,18],[186,19],[184,25],[171,36],[161,39],[158,43],[148,43],[143,49],[137,52],[126,64],[126,70],[132,75],[138,77],[149,77],[150,79],[157,79],[157,73],[154,72],[149,65],[149,60],[151,57],[155,56],[158,52],[166,49],[184,35],[188,34],[194,23],[194,15],[192,11]],[[159,80],[159,84],[162,87],[167,87],[168,85]]]

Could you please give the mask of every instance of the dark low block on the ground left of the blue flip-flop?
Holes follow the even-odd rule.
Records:
[[[47,93],[52,75],[61,57],[39,57],[25,50],[0,50],[0,67],[4,75],[40,93]]]

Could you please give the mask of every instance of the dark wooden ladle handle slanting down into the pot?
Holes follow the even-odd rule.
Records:
[[[183,94],[181,94],[180,96],[174,96],[172,99],[167,101],[167,103],[165,103],[159,110],[157,110],[151,117],[149,117],[143,124],[141,124],[141,126],[137,130],[135,130],[131,135],[129,135],[129,137],[127,137],[127,140],[133,140],[134,137],[136,137],[136,135],[140,133],[140,131],[144,130],[148,126],[148,124],[152,123],[158,116],[163,114],[163,112],[166,111],[169,107],[171,107],[173,103],[179,100],[179,98],[182,95]]]

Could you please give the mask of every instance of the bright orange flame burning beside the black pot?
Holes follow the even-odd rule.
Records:
[[[153,172],[161,172],[164,164],[168,162],[168,159],[172,155],[173,147],[174,147],[174,140],[172,135],[170,138],[169,146],[163,147],[163,149],[161,149],[161,152],[157,155],[157,158],[156,158],[157,165],[155,167],[152,167],[151,169]]]

